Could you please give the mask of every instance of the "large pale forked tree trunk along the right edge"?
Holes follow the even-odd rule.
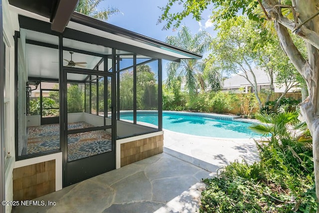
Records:
[[[296,20],[297,26],[317,12],[318,0],[292,0],[296,12],[299,14]],[[298,72],[305,78],[309,97],[300,104],[301,114],[313,136],[313,154],[315,168],[315,183],[317,201],[319,198],[319,39],[313,39],[312,35],[319,35],[319,16],[315,16],[306,24],[299,27],[298,35],[307,44],[308,61],[303,58],[298,48],[289,35],[288,28],[294,29],[295,23],[284,17],[278,5],[278,0],[263,0],[263,6],[268,15],[274,20],[280,43],[287,56],[294,64]],[[312,33],[308,33],[308,32]],[[314,43],[315,42],[315,43]],[[318,210],[319,211],[319,210]],[[317,211],[317,212],[318,212]]]

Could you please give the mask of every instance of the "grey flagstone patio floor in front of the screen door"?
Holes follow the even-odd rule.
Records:
[[[210,172],[166,153],[113,170],[35,200],[55,206],[13,213],[193,213]]]

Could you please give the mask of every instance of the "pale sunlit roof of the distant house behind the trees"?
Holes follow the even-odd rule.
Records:
[[[261,84],[270,83],[269,77],[264,70],[253,69],[253,72],[255,74],[257,84],[261,85]],[[247,74],[248,74],[248,79],[251,82],[254,82],[252,74],[250,72],[248,72]],[[224,80],[223,88],[238,88],[238,87],[244,87],[249,85],[250,83],[246,78],[236,74],[235,76]]]

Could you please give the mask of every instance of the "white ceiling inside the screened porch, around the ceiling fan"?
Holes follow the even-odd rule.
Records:
[[[26,63],[27,63],[27,72],[29,77],[41,77],[41,78],[53,78],[58,79],[59,78],[59,50],[57,49],[59,44],[59,39],[57,36],[42,33],[42,32],[36,32],[28,29],[20,29],[21,34],[25,34],[25,39],[27,40],[33,40],[42,42],[40,45],[36,44],[30,44],[26,43]],[[53,47],[46,47],[45,44],[53,44],[55,45],[55,48]],[[51,45],[52,46],[52,45]],[[82,41],[72,40],[68,38],[63,38],[63,46],[72,48],[72,49],[78,49],[78,50],[84,50],[87,52],[93,52],[98,53],[102,55],[111,55],[112,54],[112,48],[91,44],[91,43],[85,43]],[[133,53],[127,52],[123,50],[116,50],[116,54],[120,54],[121,58],[131,58],[133,65]],[[123,55],[121,55],[123,54]],[[71,60],[71,54],[70,51],[63,50],[63,58],[67,60]],[[139,62],[146,61],[150,59],[148,56],[144,55],[137,55],[137,58],[139,59]],[[93,69],[96,64],[102,59],[102,57],[89,55],[89,54],[83,54],[74,51],[72,54],[72,60],[74,62],[87,62],[85,64],[86,67],[81,66],[75,66],[77,68],[85,68],[85,69]],[[122,61],[123,63],[123,61]],[[121,64],[122,64],[121,63]],[[67,62],[63,61],[64,66],[67,65]],[[102,63],[99,66],[99,70],[103,70],[104,64]],[[128,64],[126,64],[129,66]],[[126,66],[124,66],[126,67]],[[112,68],[112,60],[108,60],[108,70]],[[121,65],[121,68],[123,68],[123,65]],[[74,79],[71,80],[84,80],[84,78],[80,78],[80,75],[71,75],[72,77],[76,76]],[[83,77],[83,76],[82,76]]]

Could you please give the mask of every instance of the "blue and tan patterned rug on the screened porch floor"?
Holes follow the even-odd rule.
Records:
[[[94,127],[86,122],[69,123],[68,129]],[[27,154],[60,149],[59,124],[28,128]],[[104,130],[68,135],[68,161],[112,151],[111,134]]]

